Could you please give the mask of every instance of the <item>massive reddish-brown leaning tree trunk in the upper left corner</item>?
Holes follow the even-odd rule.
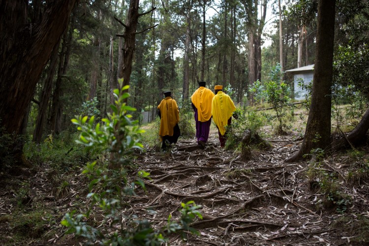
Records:
[[[47,1],[39,25],[30,25],[28,1],[0,1],[0,115],[8,132],[20,133],[34,88],[76,2]]]

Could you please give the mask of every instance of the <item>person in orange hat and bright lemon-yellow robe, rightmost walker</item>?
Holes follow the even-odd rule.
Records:
[[[232,123],[232,115],[236,107],[231,97],[222,91],[223,86],[215,86],[214,90],[215,96],[212,101],[213,121],[218,128],[220,147],[224,147],[226,141],[225,126]],[[233,117],[237,119],[236,115]]]

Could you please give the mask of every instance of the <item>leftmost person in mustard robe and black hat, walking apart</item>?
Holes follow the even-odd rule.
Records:
[[[157,106],[157,113],[160,117],[159,136],[162,141],[161,149],[166,151],[167,147],[177,143],[181,130],[178,126],[180,122],[180,111],[176,100],[172,98],[172,92],[164,92],[165,98]]]

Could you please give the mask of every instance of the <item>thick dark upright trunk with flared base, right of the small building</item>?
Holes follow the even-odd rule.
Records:
[[[295,161],[312,149],[326,150],[331,136],[331,85],[333,73],[333,47],[335,35],[336,0],[319,0],[316,35],[316,58],[311,104],[305,137],[300,150],[286,161]]]

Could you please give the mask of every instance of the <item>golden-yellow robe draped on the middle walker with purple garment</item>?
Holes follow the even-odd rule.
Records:
[[[212,118],[212,100],[214,93],[205,88],[199,87],[191,96],[193,105],[197,108],[197,120],[207,122]]]

